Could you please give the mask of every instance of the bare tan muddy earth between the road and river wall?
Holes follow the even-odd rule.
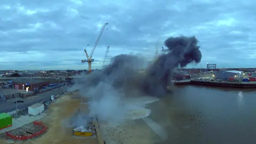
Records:
[[[49,129],[38,138],[34,138],[27,141],[14,141],[14,143],[35,143],[35,144],[45,144],[45,143],[90,143],[98,144],[98,139],[94,136],[90,138],[86,137],[76,137],[73,135],[73,127],[68,126],[68,122],[71,116],[76,113],[79,108],[83,111],[88,111],[86,105],[80,105],[79,99],[71,98],[70,95],[65,95],[58,99],[57,102],[49,105],[49,109],[45,111],[47,114],[44,118],[40,119]],[[32,126],[33,124],[27,124],[20,127],[20,130],[13,130],[12,134],[15,132],[17,134],[22,134],[21,130],[39,131],[38,126]],[[21,132],[20,132],[21,131]],[[3,138],[3,137],[2,137]],[[4,138],[0,143],[6,143]]]

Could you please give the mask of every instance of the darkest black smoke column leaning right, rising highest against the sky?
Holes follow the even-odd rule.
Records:
[[[197,39],[193,37],[169,37],[164,44],[168,48],[166,54],[162,54],[147,70],[144,90],[154,96],[165,95],[172,85],[173,71],[177,67],[185,67],[191,62],[201,61],[202,54],[197,45]]]

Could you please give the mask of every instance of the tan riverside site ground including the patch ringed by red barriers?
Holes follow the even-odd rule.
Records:
[[[63,95],[58,101],[49,105],[49,109],[45,111],[46,116],[38,119],[40,124],[35,122],[23,125],[8,133],[18,136],[21,140],[15,140],[6,133],[1,134],[1,143],[17,142],[17,143],[99,143],[96,133],[91,137],[78,137],[73,133],[74,127],[69,122],[72,116],[80,109],[88,113],[86,105],[80,105],[79,99],[73,99],[70,94]],[[37,137],[24,139],[33,133],[40,132]],[[22,139],[23,138],[23,139]]]

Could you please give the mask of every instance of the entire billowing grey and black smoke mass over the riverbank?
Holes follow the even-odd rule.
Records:
[[[188,63],[201,61],[202,54],[196,37],[170,37],[164,42],[168,51],[147,66],[146,60],[134,55],[117,55],[110,65],[90,75],[75,79],[76,89],[89,98],[90,114],[100,121],[119,123],[130,117],[131,111],[143,109],[145,104],[131,102],[130,98],[161,97],[170,92],[173,71]],[[148,113],[145,110],[145,113]],[[145,114],[144,114],[145,115]],[[140,116],[132,115],[133,118]],[[146,116],[146,115],[145,115]]]

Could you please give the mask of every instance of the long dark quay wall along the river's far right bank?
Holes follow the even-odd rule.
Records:
[[[218,81],[176,81],[175,85],[205,85],[205,86],[218,86],[218,87],[233,87],[233,88],[256,88],[255,82],[218,82]]]

